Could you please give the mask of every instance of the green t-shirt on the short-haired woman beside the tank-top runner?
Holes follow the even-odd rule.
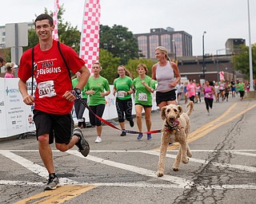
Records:
[[[155,83],[151,83],[150,77],[146,76],[143,80],[149,87],[155,88]],[[142,80],[139,77],[134,79],[134,88],[136,89],[135,104],[152,105],[152,94],[142,84]]]

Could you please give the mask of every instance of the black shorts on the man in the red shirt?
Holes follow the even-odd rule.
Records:
[[[34,110],[34,124],[38,136],[49,134],[49,143],[70,143],[73,135],[74,120],[71,114],[54,115]]]

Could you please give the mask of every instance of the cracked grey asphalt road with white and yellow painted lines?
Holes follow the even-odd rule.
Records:
[[[34,136],[1,141],[0,202],[255,203],[256,100],[237,97],[214,103],[210,116],[202,101],[195,104],[190,120],[193,156],[179,171],[171,169],[178,147],[174,143],[166,155],[165,175],[156,176],[159,133],[151,140],[146,135],[137,140],[137,135],[121,137],[118,130],[104,126],[102,143],[94,143],[95,129],[86,128],[90,155],[82,157],[77,147],[67,152],[54,150],[54,165],[63,186],[45,192],[47,172]],[[159,112],[152,112],[152,130],[160,128]],[[136,131],[136,123],[127,129]]]

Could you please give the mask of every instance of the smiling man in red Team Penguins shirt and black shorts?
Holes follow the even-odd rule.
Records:
[[[55,175],[50,143],[55,140],[55,146],[60,151],[67,151],[77,145],[82,155],[86,156],[89,153],[89,144],[82,135],[82,131],[74,128],[70,112],[76,100],[72,92],[81,93],[81,89],[90,77],[90,71],[73,49],[60,43],[62,58],[58,42],[53,40],[54,22],[50,15],[39,15],[34,21],[34,26],[39,43],[34,46],[34,51],[28,49],[22,55],[18,69],[20,78],[18,87],[24,103],[34,105],[38,149],[49,173],[45,190],[53,190],[60,184]],[[32,52],[34,59],[32,59]],[[32,61],[34,61],[34,79],[37,82],[34,97],[28,94],[26,85],[26,81],[32,75]],[[70,92],[72,83],[69,68],[72,73],[81,73],[81,80],[72,92]]]

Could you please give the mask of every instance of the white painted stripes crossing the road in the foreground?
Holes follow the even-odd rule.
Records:
[[[13,160],[14,162],[22,165],[22,167],[26,167],[28,170],[33,171],[35,174],[40,175],[46,179],[48,179],[48,174],[46,172],[45,167],[42,167],[36,163],[31,162],[28,159],[23,158],[22,156],[14,154],[12,151],[17,151],[17,152],[32,152],[32,151],[38,151],[38,150],[0,150],[0,154],[6,156],[6,158]],[[54,150],[56,152],[59,152],[58,150]],[[212,150],[194,150],[195,151],[202,151],[202,152],[213,152]],[[256,150],[236,150],[236,151],[226,151],[230,152],[232,154],[237,154],[237,155],[246,155],[246,156],[256,156],[256,154],[248,153],[246,151],[254,151]],[[159,151],[91,151],[91,152],[127,152],[127,153],[144,153],[144,154],[149,154],[149,155],[159,155]],[[78,157],[81,157],[84,159],[84,157],[78,152],[74,150],[67,151],[67,153],[71,155],[76,155]],[[166,157],[173,158],[175,159],[176,155],[170,155],[166,154]],[[149,183],[149,182],[98,182],[98,183],[88,183],[88,182],[75,182],[71,179],[67,178],[60,178],[61,182],[64,185],[67,184],[79,184],[79,185],[95,185],[95,186],[133,186],[133,187],[154,187],[154,188],[190,188],[190,186],[193,185],[193,182],[187,180],[187,179],[182,179],[179,177],[171,176],[171,175],[164,175],[161,178],[158,178],[156,176],[156,171],[150,171],[141,167],[134,167],[131,165],[127,165],[124,163],[116,163],[114,161],[98,158],[95,156],[88,155],[85,159],[88,159],[90,161],[94,161],[96,163],[102,163],[105,165],[108,165],[110,167],[116,167],[120,168],[126,171],[132,171],[134,173],[138,173],[140,175],[145,175],[149,177],[153,177],[155,179],[159,180],[165,180],[169,182],[174,182],[174,184],[161,184],[161,183]],[[208,161],[203,160],[203,159],[190,159],[191,162],[194,163],[208,163]],[[223,164],[223,163],[213,163],[213,165],[218,166],[218,167],[230,167],[230,168],[236,168],[238,170],[242,171],[250,171],[250,172],[255,172],[256,168],[255,167],[248,167],[248,166],[241,166],[241,165],[231,165],[231,164]],[[44,184],[42,182],[23,182],[23,181],[7,181],[7,180],[0,180],[0,185],[21,185],[21,186],[43,186]],[[213,185],[213,186],[196,186],[198,189],[216,189],[216,190],[222,190],[222,189],[250,189],[250,190],[255,190],[256,185],[254,184],[248,184],[248,185]]]

